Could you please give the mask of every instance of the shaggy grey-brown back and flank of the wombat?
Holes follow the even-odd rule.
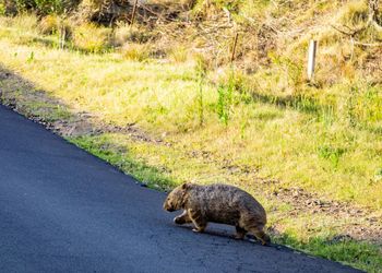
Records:
[[[264,207],[248,192],[228,185],[192,185],[189,204],[198,204],[210,222],[237,225],[240,217],[253,217],[266,223]]]

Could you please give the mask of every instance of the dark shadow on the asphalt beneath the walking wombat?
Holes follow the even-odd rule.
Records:
[[[193,233],[192,232],[193,226],[191,224],[177,225],[177,227],[189,229],[190,233]],[[195,233],[195,234],[198,234],[198,233]],[[246,238],[242,240],[236,239],[235,234],[236,234],[235,227],[214,223],[214,224],[208,224],[207,228],[200,235],[217,236],[217,237],[223,237],[223,238],[229,238],[231,240],[237,241],[238,244],[252,244],[252,245],[261,246],[260,240],[258,240],[258,238],[255,236],[253,236],[252,234],[247,234]],[[288,248],[286,246],[276,245],[276,244],[270,244],[270,245],[266,245],[264,247],[275,248],[277,250],[283,250],[283,251],[288,251],[288,252],[302,253],[302,252],[297,251],[295,249]]]

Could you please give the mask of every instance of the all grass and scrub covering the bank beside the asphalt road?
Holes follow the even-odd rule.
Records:
[[[0,1],[15,15],[0,99],[148,187],[239,186],[274,241],[381,272],[382,16],[362,0],[206,2],[148,1],[130,25],[132,7]]]

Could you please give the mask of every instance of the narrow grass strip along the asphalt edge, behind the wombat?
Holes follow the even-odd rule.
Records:
[[[261,189],[255,188],[256,183],[248,180],[250,177],[227,171],[219,166],[219,162],[206,163],[198,157],[190,158],[180,149],[132,141],[122,134],[79,136],[69,140],[154,189],[169,190],[182,181],[199,183],[224,181],[239,186],[252,193],[268,212],[268,226],[277,226],[280,233],[273,235],[274,242],[368,272],[379,272],[382,265],[379,247],[355,241],[346,236],[337,236],[338,233],[346,230],[351,219],[320,213],[286,216],[290,215],[288,214],[293,209],[290,205],[278,200],[265,199],[261,194]]]

